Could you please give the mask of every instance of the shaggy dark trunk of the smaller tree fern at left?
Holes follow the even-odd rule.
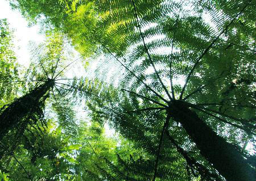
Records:
[[[15,99],[13,103],[1,108],[0,141],[11,129],[15,128],[20,121],[40,109],[40,105],[42,105],[40,101],[53,84],[54,82],[49,80],[21,98]]]

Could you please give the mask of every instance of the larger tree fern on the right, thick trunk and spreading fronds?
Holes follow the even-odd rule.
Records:
[[[24,1],[18,2],[29,13]],[[80,16],[88,31],[77,26],[81,30],[73,36],[70,24],[77,6],[89,3],[93,5],[84,11],[84,18]],[[38,6],[43,6],[41,1]],[[255,180],[255,167],[240,148],[245,137],[256,134],[255,76],[251,76],[255,75],[255,1],[116,0],[81,1],[77,6],[61,20],[45,9],[38,15],[61,24],[57,28],[82,54],[101,49],[105,60],[99,70],[115,66],[119,71],[112,77],[114,86],[95,89],[88,106],[92,119],[109,121],[154,161],[152,180],[172,164],[162,157],[174,149],[168,132],[191,157],[180,159],[179,165],[195,157],[202,165],[197,171],[210,168],[210,179],[217,179],[216,169],[226,180]],[[97,74],[100,80],[108,77]],[[88,94],[86,89],[90,87],[83,90]],[[193,165],[188,165],[179,174],[189,179]]]

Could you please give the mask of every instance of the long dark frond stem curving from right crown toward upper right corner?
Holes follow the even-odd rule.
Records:
[[[249,1],[249,3],[250,3],[250,2],[251,2],[251,1]],[[248,3],[248,4],[249,4],[249,3]],[[228,30],[228,28],[229,28],[230,25],[234,22],[234,20],[236,20],[236,19],[238,18],[238,16],[240,16],[240,15],[242,14],[242,12],[246,9],[246,7],[248,6],[248,4],[245,5],[245,7],[243,7],[243,9],[236,15],[236,17],[233,18],[233,19],[229,22],[229,24],[224,28],[224,30],[222,30],[222,31],[218,34],[218,36],[212,41],[212,43],[210,43],[210,45],[204,50],[204,52],[201,54],[201,56],[200,56],[199,58],[197,58],[195,64],[193,65],[193,68],[191,69],[191,71],[190,71],[189,74],[188,74],[187,79],[185,80],[185,84],[184,84],[184,86],[183,86],[183,88],[182,88],[182,90],[181,90],[181,93],[180,93],[180,100],[182,99],[182,96],[183,96],[183,93],[184,93],[184,91],[185,91],[185,89],[186,89],[186,87],[187,87],[188,81],[189,81],[191,75],[193,74],[193,71],[196,69],[196,66],[199,64],[200,60],[205,56],[205,54],[208,53],[209,49],[213,47],[214,43],[216,43],[216,41],[220,38],[220,36]]]

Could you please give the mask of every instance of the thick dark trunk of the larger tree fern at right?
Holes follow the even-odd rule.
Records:
[[[201,155],[229,181],[255,181],[256,171],[242,157],[236,146],[218,136],[183,102],[175,101],[170,115],[179,122],[199,148]]]

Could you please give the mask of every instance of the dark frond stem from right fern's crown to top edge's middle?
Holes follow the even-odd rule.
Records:
[[[134,7],[134,15],[136,17],[136,20],[137,20],[137,26],[139,28],[139,34],[141,35],[141,39],[143,41],[143,46],[144,46],[144,50],[148,56],[148,59],[150,60],[150,63],[152,65],[152,67],[154,68],[154,71],[156,73],[156,77],[158,77],[159,79],[159,82],[161,83],[164,91],[166,91],[166,94],[168,95],[169,99],[172,100],[172,96],[169,94],[168,90],[166,89],[166,86],[164,86],[164,83],[162,82],[162,79],[160,78],[159,74],[158,74],[158,71],[156,71],[156,68],[155,68],[155,65],[154,65],[154,62],[150,56],[150,53],[148,52],[148,48],[147,48],[147,45],[145,43],[145,39],[144,39],[144,35],[143,35],[143,32],[141,31],[141,24],[139,24],[139,17],[138,17],[138,14],[137,14],[137,8],[135,6],[135,2],[134,0],[131,0],[131,2],[133,3],[133,7]]]

